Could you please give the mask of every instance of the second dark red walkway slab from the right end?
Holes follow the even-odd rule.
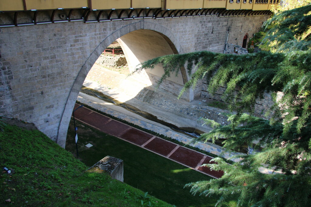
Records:
[[[169,156],[169,158],[188,165],[189,167],[195,168],[202,160],[203,156],[203,154],[196,151],[187,149],[185,147],[179,147],[172,155]]]

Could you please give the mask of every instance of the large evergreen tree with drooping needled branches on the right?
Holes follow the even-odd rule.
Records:
[[[309,206],[311,202],[311,51],[309,33],[311,6],[280,12],[267,23],[265,41],[274,42],[279,53],[259,52],[246,55],[193,52],[158,57],[141,64],[137,71],[162,64],[162,80],[177,74],[187,65],[190,80],[181,93],[207,79],[208,91],[225,86],[224,99],[236,115],[228,115],[229,125],[206,120],[214,129],[193,142],[215,141],[225,137],[227,150],[247,144],[258,152],[242,155],[228,165],[221,158],[211,169],[223,170],[220,179],[198,181],[186,186],[193,194],[220,195],[216,205],[238,194],[238,205]],[[196,70],[193,71],[193,68]],[[159,83],[160,84],[160,83]],[[236,89],[239,91],[236,92]],[[264,92],[272,94],[275,104],[270,119],[252,116],[255,101]],[[282,92],[276,102],[276,93]],[[249,112],[249,115],[244,112]],[[281,173],[264,174],[259,167]]]

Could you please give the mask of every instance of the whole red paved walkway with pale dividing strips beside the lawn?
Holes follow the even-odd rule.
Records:
[[[80,105],[76,104],[74,109],[79,106]],[[75,111],[75,118],[104,133],[140,146],[213,178],[220,178],[224,174],[222,171],[211,171],[208,167],[201,167],[202,164],[213,163],[210,162],[213,157],[169,142],[160,137],[153,136],[149,133],[128,126],[127,124],[123,124],[107,116],[101,115],[86,107],[82,107]]]

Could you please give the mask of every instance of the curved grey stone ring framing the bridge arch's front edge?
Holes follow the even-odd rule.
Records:
[[[60,146],[65,147],[67,129],[68,129],[69,121],[71,118],[72,110],[77,100],[77,96],[81,89],[81,86],[86,78],[86,75],[90,71],[92,65],[95,63],[95,61],[100,56],[100,54],[103,52],[103,50],[106,47],[108,47],[109,44],[111,44],[114,40],[122,36],[125,36],[126,34],[129,34],[131,32],[137,31],[137,30],[150,30],[154,33],[157,33],[158,35],[161,35],[166,40],[167,44],[169,45],[170,49],[172,50],[174,54],[184,53],[179,40],[175,38],[174,34],[169,29],[165,28],[162,25],[152,23],[152,22],[140,21],[140,22],[128,24],[128,25],[121,27],[120,29],[113,31],[108,36],[104,37],[104,39],[100,42],[100,44],[98,44],[97,47],[93,50],[93,52],[91,52],[90,56],[87,57],[86,61],[84,62],[84,64],[81,66],[79,70],[77,78],[72,84],[71,90],[67,97],[65,108],[61,116],[61,120],[59,122],[59,127],[58,127],[58,134],[57,134],[56,142]],[[183,83],[185,83],[188,77],[187,77],[187,74],[184,68],[181,69],[181,76],[182,76],[181,78],[182,78]],[[188,94],[185,94],[184,99],[192,100],[193,92],[189,91]]]

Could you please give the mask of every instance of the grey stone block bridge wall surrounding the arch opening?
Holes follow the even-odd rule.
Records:
[[[100,54],[117,38],[149,29],[163,34],[178,53],[223,52],[228,26],[228,42],[242,45],[244,34],[252,36],[267,18],[202,16],[1,28],[0,114],[33,122],[65,147],[81,85]]]

